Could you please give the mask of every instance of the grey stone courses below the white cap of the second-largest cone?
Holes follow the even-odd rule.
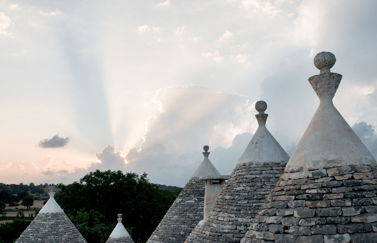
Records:
[[[284,172],[287,162],[238,164],[213,211],[187,242],[239,242]]]

